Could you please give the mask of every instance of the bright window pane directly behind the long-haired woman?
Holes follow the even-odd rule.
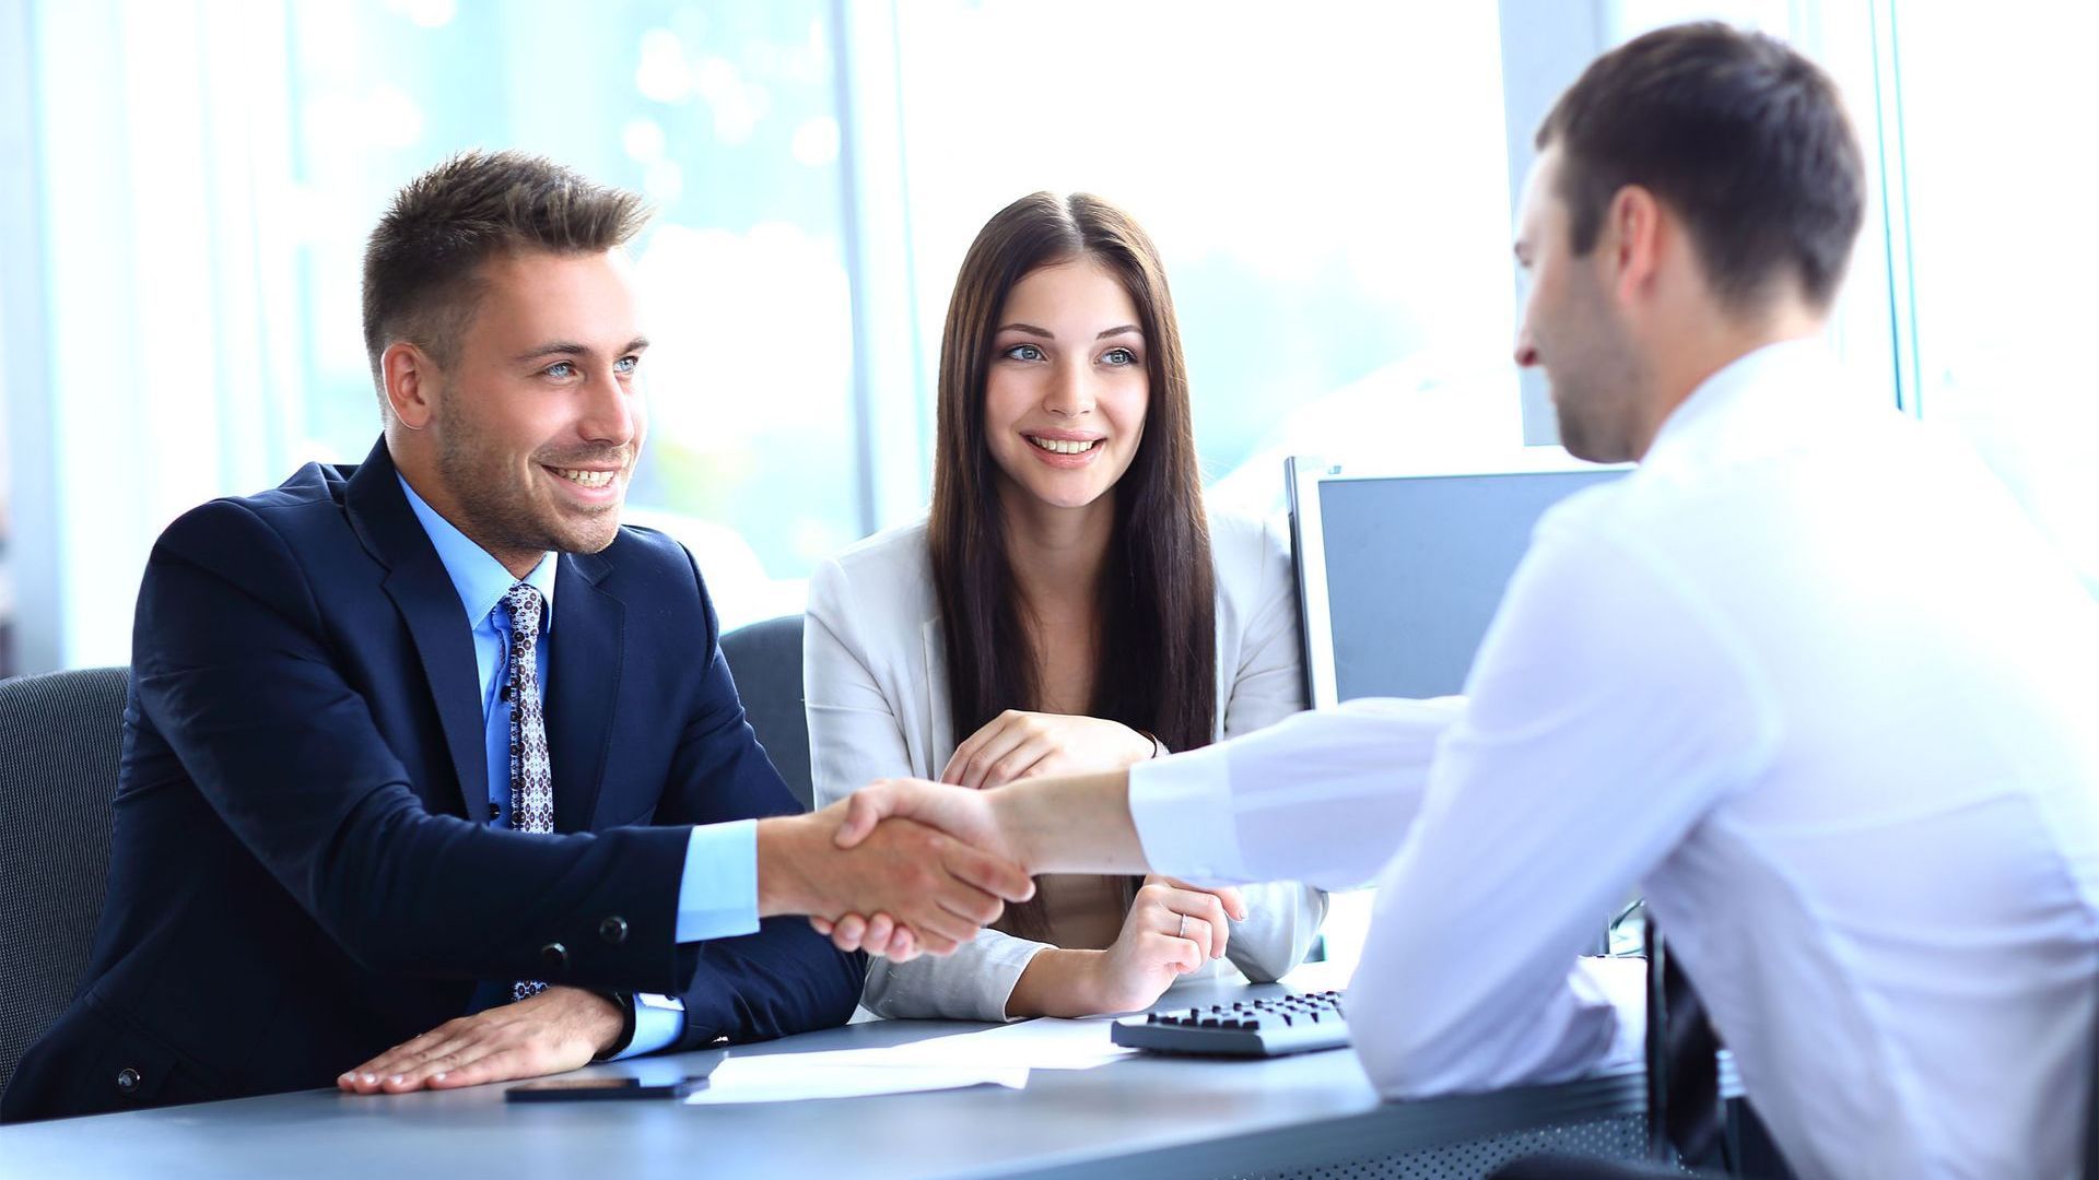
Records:
[[[1238,498],[1293,449],[1520,439],[1494,4],[921,0],[898,34],[926,357],[984,220],[1089,191],[1165,254]]]

